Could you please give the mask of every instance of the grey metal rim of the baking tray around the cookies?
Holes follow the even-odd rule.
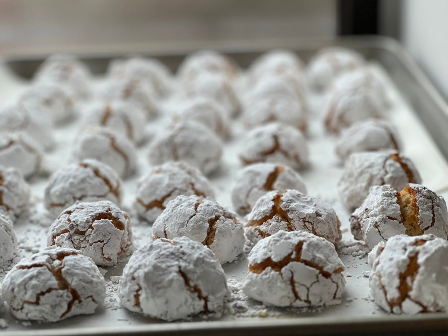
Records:
[[[220,43],[204,42],[188,45],[121,45],[102,46],[96,48],[96,50],[92,48],[85,51],[78,50],[76,54],[91,68],[94,74],[102,74],[111,59],[128,55],[130,52],[157,57],[174,71],[186,54],[197,49],[219,50],[231,56],[242,68],[245,68],[262,52],[272,48],[292,49],[302,59],[308,61],[318,49],[329,45],[340,45],[355,49],[370,61],[380,64],[393,84],[399,88],[407,103],[412,106],[412,110],[420,117],[434,142],[437,143],[438,153],[442,153],[445,158],[448,158],[448,133],[446,132],[446,129],[448,129],[448,106],[403,47],[389,38],[364,36],[331,41],[278,39]],[[5,71],[13,76],[17,82],[25,83],[32,77],[35,69],[45,56],[54,51],[23,50],[20,54],[15,55],[4,53],[0,55],[2,58],[0,72]],[[73,52],[74,50],[63,51]],[[2,90],[1,85],[0,90]],[[406,141],[406,139],[404,140]],[[446,161],[443,158],[442,160],[443,164],[446,165]],[[435,183],[433,183],[434,185]],[[435,191],[438,193],[447,192],[448,183],[441,184]],[[231,268],[232,265],[224,267],[226,272],[228,269],[231,272]],[[111,274],[108,273],[108,275]],[[54,325],[51,329],[47,329],[45,325],[38,326],[33,323],[30,328],[21,328],[18,331],[13,331],[13,328],[10,328],[10,330],[5,330],[2,333],[3,335],[169,335],[173,333],[182,335],[210,333],[213,333],[213,335],[230,333],[235,335],[293,335],[299,333],[315,335],[321,333],[374,334],[381,328],[389,333],[402,332],[409,335],[422,331],[443,332],[448,329],[448,316],[446,314],[423,314],[419,316],[377,314],[361,317],[338,315],[335,317],[331,314],[320,316],[318,313],[295,316],[293,314],[293,316],[276,318],[227,319],[225,321],[207,322],[195,320],[194,322],[147,324],[144,324],[145,320],[143,319],[143,323],[139,325],[126,326],[123,324],[123,326],[118,327],[95,326],[95,323],[90,323],[88,327],[77,327],[76,321],[80,320],[77,320],[77,318],[69,320],[68,324],[60,325],[60,328]],[[36,328],[34,328],[35,326]]]

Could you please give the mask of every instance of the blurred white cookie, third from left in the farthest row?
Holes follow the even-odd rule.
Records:
[[[181,81],[188,83],[204,74],[233,79],[238,71],[237,65],[229,57],[213,50],[200,50],[188,55],[183,60],[177,75]]]

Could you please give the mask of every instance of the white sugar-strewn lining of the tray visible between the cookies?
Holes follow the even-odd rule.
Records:
[[[447,197],[448,195],[448,165],[443,155],[435,145],[428,131],[424,128],[420,119],[412,111],[400,93],[394,87],[384,69],[378,63],[371,63],[369,67],[384,82],[386,91],[391,102],[390,118],[396,125],[402,139],[404,140],[403,153],[408,155],[419,169],[423,183],[430,189]],[[101,82],[101,80],[100,80]],[[14,77],[5,67],[0,67],[0,100],[7,102],[12,100],[27,83]],[[346,266],[343,273],[346,279],[346,295],[340,305],[326,308],[309,309],[278,309],[265,307],[261,303],[247,300],[240,292],[240,284],[247,272],[247,260],[240,256],[238,262],[225,264],[224,270],[228,277],[232,297],[226,305],[224,316],[209,316],[207,320],[203,317],[195,318],[194,321],[232,321],[232,320],[273,320],[281,322],[283,319],[297,320],[307,317],[330,317],[352,319],[372,316],[386,315],[377,308],[368,294],[368,265],[366,250],[359,243],[353,242],[349,232],[349,212],[338,202],[336,195],[336,183],[341,174],[341,166],[333,154],[334,137],[325,134],[322,127],[322,118],[325,111],[326,97],[312,96],[312,111],[310,112],[310,129],[308,142],[310,148],[310,168],[301,171],[310,195],[324,199],[332,204],[341,221],[343,230],[343,247],[339,250],[340,257]],[[165,110],[170,110],[170,104],[165,105]],[[70,125],[55,128],[54,134],[57,147],[45,157],[45,168],[48,172],[54,171],[68,164],[71,160],[71,144],[79,130],[82,118]],[[169,122],[168,112],[151,122],[147,126],[148,139],[161,125]],[[230,201],[231,181],[241,168],[237,153],[239,141],[244,129],[238,122],[233,120],[231,125],[232,134],[225,142],[223,162],[220,170],[210,176],[217,194],[217,201],[224,207],[232,208]],[[412,136],[409,136],[412,134]],[[135,237],[135,245],[147,241],[150,237],[151,227],[145,222],[139,222],[132,208],[133,195],[136,190],[135,181],[149,168],[147,160],[147,145],[138,148],[138,172],[133,177],[123,181],[124,207],[131,216],[132,229]],[[45,215],[42,206],[43,191],[47,184],[46,176],[38,176],[31,179],[31,189],[34,205],[27,216],[23,216],[15,224],[14,229],[19,238],[19,254],[21,257],[29,255],[44,247],[48,226],[52,219]],[[129,326],[144,326],[148,323],[162,323],[160,321],[131,313],[121,308],[117,300],[116,283],[117,276],[121,274],[123,265],[118,267],[104,268],[106,271],[108,296],[105,307],[99,309],[96,314],[90,316],[78,316],[68,320],[55,323],[22,322],[15,320],[8,312],[0,316],[8,324],[7,331],[21,331],[47,328],[64,328],[72,330],[75,328],[120,328]],[[4,273],[4,272],[3,272]],[[113,282],[111,281],[111,277]],[[2,276],[1,276],[2,280]],[[247,308],[247,310],[246,310]]]

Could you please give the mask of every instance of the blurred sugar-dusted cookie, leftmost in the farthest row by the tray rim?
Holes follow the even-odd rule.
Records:
[[[69,87],[79,98],[92,95],[89,68],[72,55],[52,55],[37,69],[34,81],[52,82]]]

